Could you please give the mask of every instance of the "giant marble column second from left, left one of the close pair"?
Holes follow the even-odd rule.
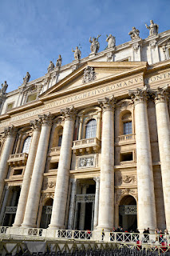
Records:
[[[34,134],[33,134],[32,142],[30,145],[28,160],[26,162],[26,170],[24,172],[22,190],[19,196],[17,212],[15,215],[14,224],[13,224],[14,227],[21,226],[23,222],[23,218],[26,210],[26,202],[27,202],[29,189],[30,189],[31,174],[34,169],[34,162],[35,162],[36,152],[38,149],[38,140],[40,137],[40,129],[41,129],[40,122],[38,120],[35,120],[33,122],[30,122],[30,125],[34,129]]]

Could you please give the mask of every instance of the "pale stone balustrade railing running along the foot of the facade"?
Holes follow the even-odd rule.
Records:
[[[102,237],[99,230],[48,230],[41,228],[14,228],[9,226],[0,226],[0,238],[3,235],[23,236],[23,239],[38,238],[57,238],[57,239],[73,239],[73,240],[91,240],[105,241],[114,243],[134,244],[137,246],[169,246],[170,238],[168,234],[140,234],[140,233],[121,233],[121,232],[105,232]]]

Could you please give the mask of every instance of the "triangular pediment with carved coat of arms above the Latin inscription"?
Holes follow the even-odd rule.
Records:
[[[46,90],[41,98],[52,94],[66,93],[72,90],[81,90],[88,86],[95,86],[107,79],[125,75],[136,70],[144,70],[147,62],[86,62],[71,74],[67,75],[57,84]]]

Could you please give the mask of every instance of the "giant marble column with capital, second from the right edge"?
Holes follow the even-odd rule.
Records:
[[[129,91],[135,104],[136,171],[138,190],[138,229],[156,228],[156,205],[154,194],[152,154],[148,130],[147,89]]]

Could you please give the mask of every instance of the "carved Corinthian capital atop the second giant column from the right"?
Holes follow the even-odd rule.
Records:
[[[141,103],[146,102],[148,99],[148,87],[144,86],[143,89],[137,88],[136,90],[128,90],[128,95],[132,98],[132,102]]]

